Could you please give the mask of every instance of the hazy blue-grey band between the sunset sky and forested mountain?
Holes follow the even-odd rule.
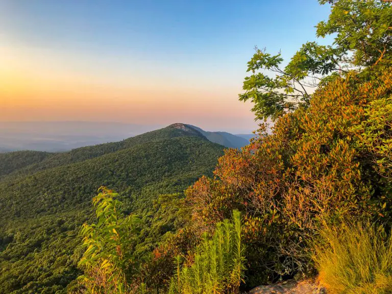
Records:
[[[64,152],[89,145],[121,141],[164,127],[167,126],[99,121],[0,121],[0,153],[23,150]],[[204,131],[251,133],[246,130]]]

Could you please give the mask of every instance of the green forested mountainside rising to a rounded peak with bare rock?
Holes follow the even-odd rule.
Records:
[[[145,216],[138,244],[152,250],[160,235],[175,229],[157,222],[149,229],[159,195],[182,198],[187,186],[211,175],[222,154],[222,145],[176,124],[67,153],[2,155],[0,292],[65,292],[80,274],[78,233],[92,218],[91,198],[102,185],[119,192],[128,213]]]

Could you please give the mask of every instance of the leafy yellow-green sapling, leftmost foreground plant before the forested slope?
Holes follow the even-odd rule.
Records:
[[[87,293],[127,293],[138,267],[132,252],[138,218],[121,213],[116,193],[106,187],[99,192],[92,200],[98,222],[84,224],[81,231],[86,251],[79,262],[85,271],[79,281]]]

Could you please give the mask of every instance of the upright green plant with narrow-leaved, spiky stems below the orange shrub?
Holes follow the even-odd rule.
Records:
[[[246,261],[241,222],[241,213],[234,210],[232,222],[218,223],[212,238],[204,233],[192,262],[182,265],[177,256],[169,293],[238,293]]]

